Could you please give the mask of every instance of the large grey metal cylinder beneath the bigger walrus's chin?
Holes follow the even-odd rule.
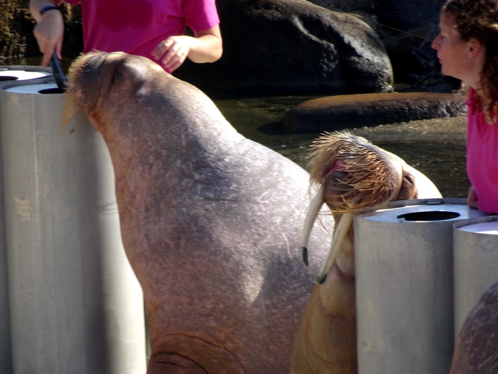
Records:
[[[55,83],[0,89],[14,374],[145,371],[143,299],[125,257],[114,172]]]

